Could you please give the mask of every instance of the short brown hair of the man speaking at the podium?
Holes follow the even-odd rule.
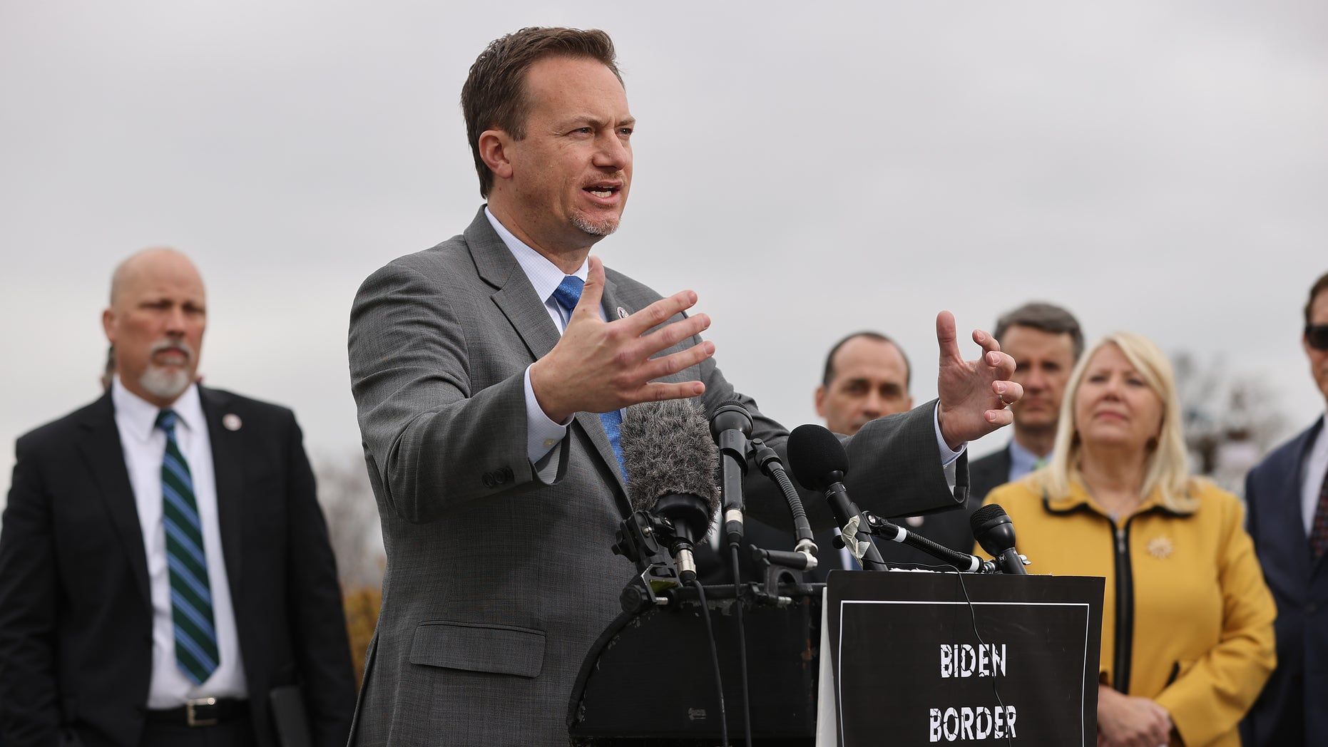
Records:
[[[614,72],[618,82],[618,57],[614,40],[599,29],[531,27],[498,37],[475,57],[466,84],[461,86],[461,113],[466,118],[466,137],[479,174],[479,195],[489,196],[494,175],[479,158],[479,133],[498,129],[515,139],[526,137],[526,70],[544,57],[588,57]]]

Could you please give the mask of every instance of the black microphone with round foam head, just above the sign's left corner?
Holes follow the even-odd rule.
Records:
[[[845,533],[850,528],[857,548],[855,557],[859,557],[863,569],[886,571],[886,563],[880,559],[876,545],[871,543],[871,532],[863,521],[862,511],[849,499],[849,491],[843,487],[843,475],[849,471],[849,452],[833,433],[822,426],[807,423],[793,429],[789,434],[789,468],[798,484],[807,490],[823,492],[830,502],[830,511],[839,521]],[[845,536],[845,541],[850,537]]]

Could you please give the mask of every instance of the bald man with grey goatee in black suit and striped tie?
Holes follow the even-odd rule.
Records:
[[[174,249],[116,268],[108,391],[21,438],[0,532],[0,743],[276,746],[349,734],[336,565],[293,414],[197,383]]]

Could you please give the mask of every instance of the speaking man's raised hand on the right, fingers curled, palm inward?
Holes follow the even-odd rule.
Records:
[[[955,334],[955,314],[936,314],[936,345],[940,348],[940,373],[936,377],[940,406],[936,417],[942,438],[954,450],[1009,425],[1013,415],[1007,406],[1024,395],[1024,387],[1009,381],[1015,373],[1015,358],[1001,353],[996,338],[975,329],[973,342],[983,348],[983,356],[965,361]]]

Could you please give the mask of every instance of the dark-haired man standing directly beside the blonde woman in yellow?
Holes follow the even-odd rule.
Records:
[[[1056,444],[1065,382],[1084,353],[1084,332],[1068,310],[1029,303],[996,321],[1001,350],[1015,358],[1015,381],[1024,385],[1024,398],[1011,405],[1015,434],[1005,448],[973,460],[969,466],[969,503],[981,506],[996,486],[1015,482],[1042,467]]]

